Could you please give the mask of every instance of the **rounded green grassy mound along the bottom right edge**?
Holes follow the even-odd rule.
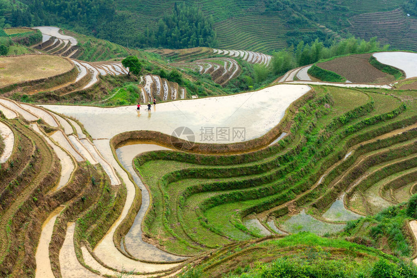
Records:
[[[397,262],[394,256],[371,247],[305,232],[231,244],[210,256],[201,256],[201,259],[201,262],[190,266],[179,277],[368,278],[375,277],[371,273],[376,268],[376,262],[389,262],[389,265]],[[413,266],[406,263],[401,266],[403,273],[412,273]],[[401,268],[392,270],[394,273],[401,271]]]

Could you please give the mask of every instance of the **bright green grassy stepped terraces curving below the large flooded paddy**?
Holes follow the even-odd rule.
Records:
[[[342,97],[337,94],[338,89],[327,87],[323,90],[328,90],[328,94],[332,96],[331,99],[334,102],[332,108],[338,108],[337,104],[346,102],[346,99],[345,101],[337,99],[337,96]],[[346,95],[351,90],[342,89],[342,91],[346,98],[352,99],[352,96]],[[307,188],[319,180],[325,169],[333,163],[337,163],[344,156],[347,147],[359,145],[362,141],[372,139],[375,134],[383,135],[390,130],[413,124],[417,119],[416,115],[414,118],[410,118],[414,113],[414,105],[404,110],[405,107],[399,99],[386,94],[365,91],[368,90],[352,90],[350,92],[353,95],[356,93],[356,97],[361,93],[366,96],[362,100],[362,108],[353,106],[344,108],[345,110],[327,112],[329,113],[327,115],[326,113],[321,114],[322,112],[318,113],[318,110],[316,112],[310,111],[319,115],[318,118],[305,119],[306,122],[298,126],[301,133],[299,138],[282,141],[281,146],[277,146],[277,149],[281,150],[281,154],[275,156],[276,158],[265,156],[268,153],[265,151],[261,160],[254,159],[257,156],[256,153],[254,153],[255,156],[244,154],[244,156],[254,159],[254,162],[233,167],[232,165],[221,166],[224,163],[228,165],[230,161],[233,161],[228,157],[224,157],[224,162],[222,162],[222,159],[213,160],[204,155],[192,158],[190,156],[193,155],[188,155],[189,157],[171,155],[166,151],[146,154],[147,158],[138,157],[136,161],[138,171],[142,174],[144,182],[150,187],[154,196],[153,207],[145,218],[144,232],[150,237],[152,234],[158,234],[158,242],[170,252],[195,254],[236,240],[257,236],[255,231],[247,230],[241,224],[242,217],[248,214],[262,212],[294,198],[297,199],[297,206],[303,206],[320,196],[325,198],[319,198],[314,203],[320,204],[322,202],[325,204],[324,206],[315,206],[324,209],[337,198],[339,190],[344,190],[341,188],[336,191],[332,189],[332,180],[354,165],[353,162],[359,155],[378,150],[379,143],[369,143],[361,147],[363,150],[355,151],[346,162],[340,164],[326,176],[322,185],[316,188],[313,186],[312,191],[308,191]],[[372,97],[372,101],[367,102],[367,97]],[[357,99],[352,103],[360,104],[361,102]],[[367,104],[370,104],[370,109],[365,108]],[[307,109],[301,110],[306,111]],[[361,111],[361,114],[358,115],[358,111]],[[393,123],[387,125],[389,122]],[[323,131],[329,133],[325,135]],[[291,136],[295,137],[296,134],[296,129],[293,129]],[[321,137],[318,138],[318,134],[321,134]],[[414,135],[407,133],[396,140],[393,140],[391,136],[385,140],[387,145],[380,152],[388,150],[390,145],[396,144],[399,139],[403,140],[401,138],[404,136],[412,136],[411,138],[413,138]],[[314,142],[320,142],[320,145],[313,151],[309,145],[314,145]],[[289,150],[287,154],[282,152],[285,149]],[[331,155],[329,155],[330,150],[334,151]],[[258,151],[258,153],[262,152]],[[326,157],[326,155],[329,156]],[[397,157],[402,155],[405,153],[397,153]],[[289,159],[289,157],[291,158]],[[311,161],[307,159],[309,162],[301,163],[301,161],[305,161],[306,157],[311,157],[309,158]],[[206,158],[207,162],[205,162]],[[386,159],[389,161],[392,158],[388,156]],[[200,163],[190,163],[192,160]],[[235,160],[236,163],[239,163],[237,162],[239,160]],[[204,166],[204,164],[209,164],[209,161],[211,161],[210,164],[215,162],[218,166]],[[378,166],[378,164],[375,165]],[[155,182],[153,179],[155,175],[158,177],[156,180],[160,180],[160,182]],[[303,177],[303,175],[306,176]],[[152,178],[150,178],[151,176]],[[277,181],[273,177],[283,178],[281,178],[282,181],[280,179]],[[291,181],[292,188],[286,187],[285,181]],[[329,191],[327,186],[329,186]],[[303,195],[304,191],[307,194]],[[276,194],[274,192],[282,193]],[[276,216],[280,216],[280,214],[276,214]],[[170,238],[169,243],[164,240],[168,237]],[[173,241],[172,237],[175,237],[176,240]]]

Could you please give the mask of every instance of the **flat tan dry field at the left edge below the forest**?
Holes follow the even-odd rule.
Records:
[[[0,87],[63,74],[73,68],[71,62],[52,55],[0,57]]]

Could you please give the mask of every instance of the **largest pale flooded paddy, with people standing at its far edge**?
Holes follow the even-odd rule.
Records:
[[[151,117],[138,117],[135,106],[44,107],[79,119],[95,139],[110,139],[132,130],[155,130],[171,135],[177,127],[187,126],[196,142],[207,143],[207,137],[201,136],[203,127],[214,132],[225,128],[229,136],[214,138],[214,143],[230,143],[264,135],[281,121],[289,105],[309,90],[306,85],[280,84],[256,92],[160,103]],[[233,128],[241,128],[243,136],[233,137]]]

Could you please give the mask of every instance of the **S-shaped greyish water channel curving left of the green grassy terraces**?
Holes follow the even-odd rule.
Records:
[[[125,236],[125,245],[126,250],[135,258],[142,260],[172,262],[184,258],[168,254],[142,240],[141,225],[145,212],[149,208],[150,198],[148,190],[133,169],[132,160],[137,154],[156,150],[168,149],[154,144],[134,144],[123,146],[116,150],[117,158],[119,159],[120,163],[126,170],[128,170],[128,172],[132,175],[135,184],[142,190],[142,206],[136,215],[132,227]]]

